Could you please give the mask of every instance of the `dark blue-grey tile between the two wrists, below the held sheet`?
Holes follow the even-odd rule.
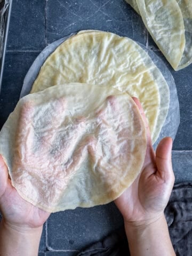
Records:
[[[122,225],[114,203],[54,213],[47,221],[47,248],[81,250]]]

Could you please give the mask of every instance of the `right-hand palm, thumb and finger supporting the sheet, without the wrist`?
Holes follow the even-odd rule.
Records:
[[[126,223],[131,226],[148,225],[164,215],[174,184],[171,163],[172,139],[164,138],[156,153],[151,143],[148,122],[137,98],[137,103],[147,129],[145,162],[138,178],[115,200]]]

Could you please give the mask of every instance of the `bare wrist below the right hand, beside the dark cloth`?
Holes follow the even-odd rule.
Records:
[[[137,223],[125,222],[125,231],[131,255],[175,256],[164,214]]]

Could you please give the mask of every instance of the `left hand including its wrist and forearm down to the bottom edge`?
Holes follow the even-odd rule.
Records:
[[[1,155],[0,173],[0,255],[37,255],[43,223],[50,213],[20,197]]]

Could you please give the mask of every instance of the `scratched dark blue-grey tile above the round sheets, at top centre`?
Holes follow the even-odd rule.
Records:
[[[128,36],[145,44],[145,26],[124,0],[113,3],[95,0],[48,0],[46,13],[47,43],[79,30],[98,29]]]

